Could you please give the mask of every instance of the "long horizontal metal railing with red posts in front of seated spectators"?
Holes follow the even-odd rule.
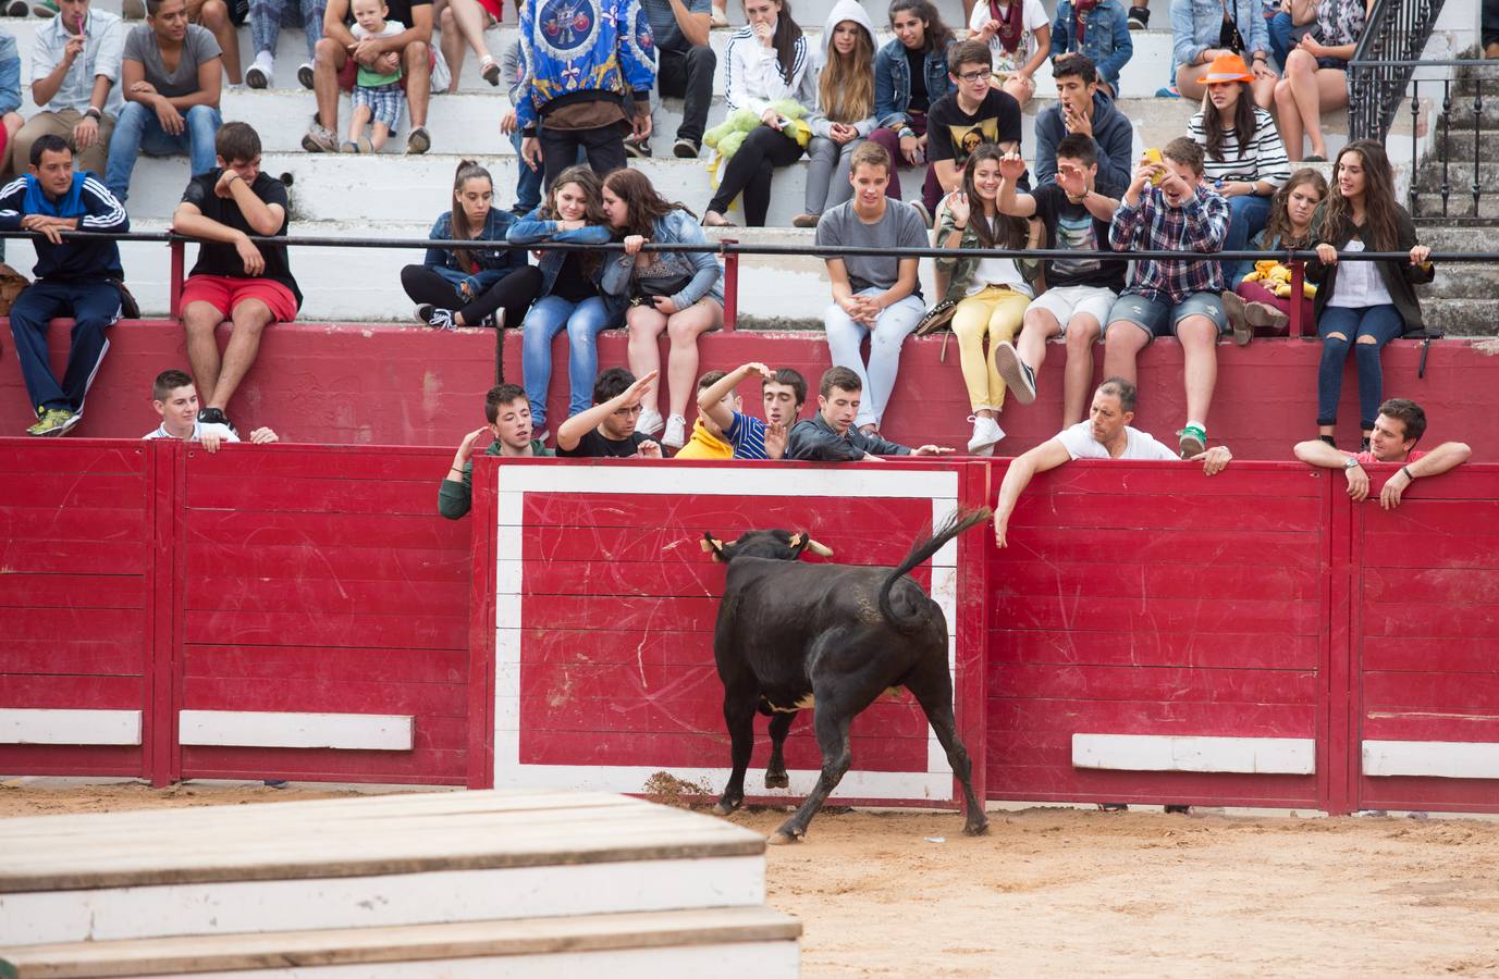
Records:
[[[186,266],[186,245],[189,243],[201,244],[196,238],[187,238],[174,232],[94,232],[94,231],[66,231],[61,232],[63,238],[76,240],[114,240],[114,241],[136,241],[136,243],[159,243],[166,244],[171,262],[171,316],[177,319],[181,316],[181,290],[184,281],[184,266]],[[37,240],[40,235],[34,232],[0,232],[0,238],[30,238]],[[577,244],[577,243],[532,243],[532,244],[505,244],[505,243],[475,243],[475,241],[436,241],[430,238],[327,238],[327,237],[292,237],[285,238],[261,237],[252,235],[250,241],[258,245],[286,245],[286,247],[307,247],[307,248],[406,248],[406,250],[426,250],[426,248],[474,248],[477,244],[483,247],[493,248],[513,248],[513,250],[559,250],[559,251],[624,251],[624,244],[613,241],[607,244]],[[721,241],[709,243],[709,247],[700,244],[646,244],[645,251],[708,251],[724,263],[724,329],[733,331],[735,323],[739,317],[739,259],[742,256],[793,256],[793,257],[815,257],[815,259],[830,259],[842,256],[878,256],[889,254],[890,248],[865,248],[854,245],[778,245],[778,244],[745,244],[732,238],[724,238]],[[994,257],[997,250],[986,248],[901,248],[901,257],[916,257],[916,259],[935,259],[935,257]],[[1007,248],[998,250],[1007,257],[1021,259],[1063,259],[1076,260],[1076,250],[1063,248]],[[1201,251],[1094,251],[1090,253],[1093,257],[1102,262],[1135,262],[1141,259],[1153,260],[1178,260],[1178,262],[1256,262],[1264,259],[1277,259],[1291,268],[1291,295],[1300,296],[1303,286],[1306,284],[1306,262],[1315,259],[1313,251],[1214,251],[1211,256],[1205,256]],[[1381,260],[1409,260],[1409,254],[1405,251],[1345,251],[1339,253],[1339,260],[1342,262],[1381,262]],[[1499,265],[1499,251],[1433,251],[1430,256],[1432,262],[1445,263],[1474,263],[1474,265]],[[929,298],[931,299],[931,298]],[[1291,302],[1289,316],[1289,335],[1292,338],[1300,338],[1306,335],[1316,335],[1316,328],[1307,329],[1307,323],[1303,323],[1301,317],[1301,302]]]

